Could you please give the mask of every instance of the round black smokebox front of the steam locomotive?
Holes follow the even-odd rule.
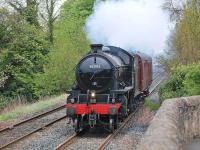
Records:
[[[83,91],[102,92],[112,86],[113,64],[98,52],[87,55],[77,65],[76,79]]]

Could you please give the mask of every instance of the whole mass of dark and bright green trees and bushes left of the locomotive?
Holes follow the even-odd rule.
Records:
[[[15,100],[32,103],[71,87],[74,67],[89,50],[83,30],[94,1],[67,0],[53,24],[53,41],[47,27],[38,24],[35,0],[16,0],[15,13],[0,5],[0,111]]]

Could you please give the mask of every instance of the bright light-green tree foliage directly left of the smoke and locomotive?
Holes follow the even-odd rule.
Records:
[[[68,0],[55,24],[55,41],[49,53],[45,73],[38,74],[39,95],[60,93],[74,82],[75,65],[88,52],[89,42],[84,33],[86,18],[91,14],[94,0]]]

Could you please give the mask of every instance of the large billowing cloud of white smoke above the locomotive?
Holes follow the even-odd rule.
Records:
[[[162,3],[163,0],[97,1],[86,23],[87,36],[91,43],[160,54],[170,32]]]

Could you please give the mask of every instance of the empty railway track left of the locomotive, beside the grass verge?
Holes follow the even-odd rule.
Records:
[[[50,111],[46,111],[39,115],[8,126],[0,130],[0,149],[7,148],[26,137],[36,133],[62,119],[66,118],[65,113],[62,114],[64,106],[56,107]],[[59,115],[56,115],[56,114]],[[61,117],[60,117],[61,116]]]

